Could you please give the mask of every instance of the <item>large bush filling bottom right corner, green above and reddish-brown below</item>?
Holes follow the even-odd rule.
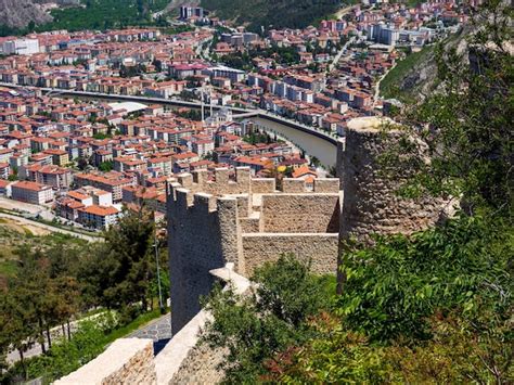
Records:
[[[511,383],[514,232],[462,216],[347,251],[346,283],[312,339],[268,360],[270,382]]]

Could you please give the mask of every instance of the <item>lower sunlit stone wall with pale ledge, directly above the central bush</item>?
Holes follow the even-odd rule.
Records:
[[[311,270],[316,273],[335,274],[338,240],[337,233],[243,234],[246,274],[250,277],[256,267],[290,253],[300,260],[311,260]]]

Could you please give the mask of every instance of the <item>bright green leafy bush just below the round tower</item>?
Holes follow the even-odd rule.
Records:
[[[378,239],[344,253],[346,275],[337,312],[373,341],[431,337],[427,318],[459,309],[463,317],[512,306],[514,234],[501,218],[461,216],[411,236]]]

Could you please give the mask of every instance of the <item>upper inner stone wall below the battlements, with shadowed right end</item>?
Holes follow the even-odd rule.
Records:
[[[338,194],[262,195],[261,232],[337,233],[338,198]]]

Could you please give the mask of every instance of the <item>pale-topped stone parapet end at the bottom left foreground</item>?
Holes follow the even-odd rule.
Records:
[[[156,384],[152,339],[116,339],[103,354],[56,385]]]

